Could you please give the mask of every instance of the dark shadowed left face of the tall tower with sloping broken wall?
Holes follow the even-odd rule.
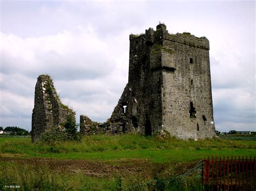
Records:
[[[149,67],[148,40],[130,36],[129,81],[110,118],[113,133],[151,135],[161,129],[161,73]]]

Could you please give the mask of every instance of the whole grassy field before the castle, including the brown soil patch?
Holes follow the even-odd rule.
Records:
[[[194,141],[98,135],[43,145],[30,138],[1,137],[0,150],[0,190],[8,185],[21,190],[147,190],[152,182],[154,188],[160,184],[171,190],[200,190],[200,177],[186,181],[177,177],[208,155],[254,157],[256,141],[253,136]]]

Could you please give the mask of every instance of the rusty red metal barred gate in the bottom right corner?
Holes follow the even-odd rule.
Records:
[[[256,190],[255,157],[208,157],[203,161],[203,183],[210,189]]]

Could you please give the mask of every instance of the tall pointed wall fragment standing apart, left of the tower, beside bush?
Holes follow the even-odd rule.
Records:
[[[32,112],[32,142],[36,142],[45,130],[66,122],[69,114],[75,118],[75,112],[60,101],[51,77],[40,75],[35,87],[35,104]]]

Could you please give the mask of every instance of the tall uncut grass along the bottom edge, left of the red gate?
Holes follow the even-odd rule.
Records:
[[[18,187],[18,190],[204,190],[199,176],[126,174],[93,178],[82,173],[57,173],[51,166],[12,162],[2,163],[0,172],[0,190],[14,190],[9,189],[10,186]]]

